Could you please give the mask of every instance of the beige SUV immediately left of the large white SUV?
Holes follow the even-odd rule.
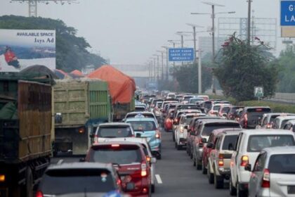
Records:
[[[211,151],[208,153],[206,169],[209,183],[214,184],[216,189],[223,188],[224,180],[230,179],[230,159],[240,131],[241,129],[216,129],[212,132],[214,141],[210,141],[209,137],[210,142],[206,147],[211,148]]]

